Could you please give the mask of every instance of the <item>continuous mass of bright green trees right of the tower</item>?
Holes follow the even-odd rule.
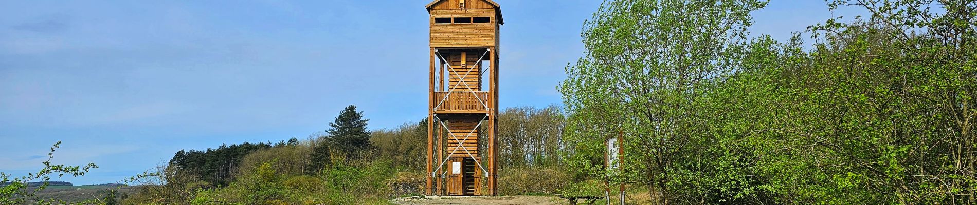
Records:
[[[871,17],[812,26],[804,51],[743,41],[762,2],[713,3],[610,1],[588,21],[561,85],[576,176],[658,204],[977,203],[977,4],[829,1]],[[621,132],[636,168],[617,179],[600,140]]]

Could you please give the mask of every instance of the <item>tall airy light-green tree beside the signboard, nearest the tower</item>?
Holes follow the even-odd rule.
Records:
[[[585,57],[560,86],[573,137],[623,133],[652,198],[669,204],[690,145],[705,127],[701,97],[739,65],[750,12],[766,1],[605,1],[582,33]],[[568,136],[571,137],[571,136]],[[635,166],[637,167],[637,166]],[[633,172],[631,172],[633,173]]]

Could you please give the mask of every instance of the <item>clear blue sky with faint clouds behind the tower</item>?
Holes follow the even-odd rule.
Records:
[[[496,0],[503,107],[560,104],[564,67],[598,0]],[[277,142],[328,128],[355,104],[369,128],[425,118],[427,0],[0,0],[0,171],[55,163],[113,183],[181,149]],[[775,0],[754,35],[838,16]],[[56,179],[58,180],[58,179]]]

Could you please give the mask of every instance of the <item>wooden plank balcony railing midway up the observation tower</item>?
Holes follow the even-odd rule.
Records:
[[[446,95],[447,99],[445,99]],[[476,91],[472,93],[472,91],[458,90],[451,92],[451,94],[448,94],[448,92],[434,92],[434,103],[435,106],[441,103],[441,106],[437,107],[434,111],[436,114],[486,113],[488,112],[486,110],[486,106],[488,105],[488,91]]]

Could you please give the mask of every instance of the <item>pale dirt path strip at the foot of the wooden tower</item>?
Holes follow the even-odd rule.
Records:
[[[516,205],[516,204],[567,204],[567,200],[557,196],[511,195],[511,196],[414,196],[391,200],[401,205],[427,204],[473,204],[473,205]]]

